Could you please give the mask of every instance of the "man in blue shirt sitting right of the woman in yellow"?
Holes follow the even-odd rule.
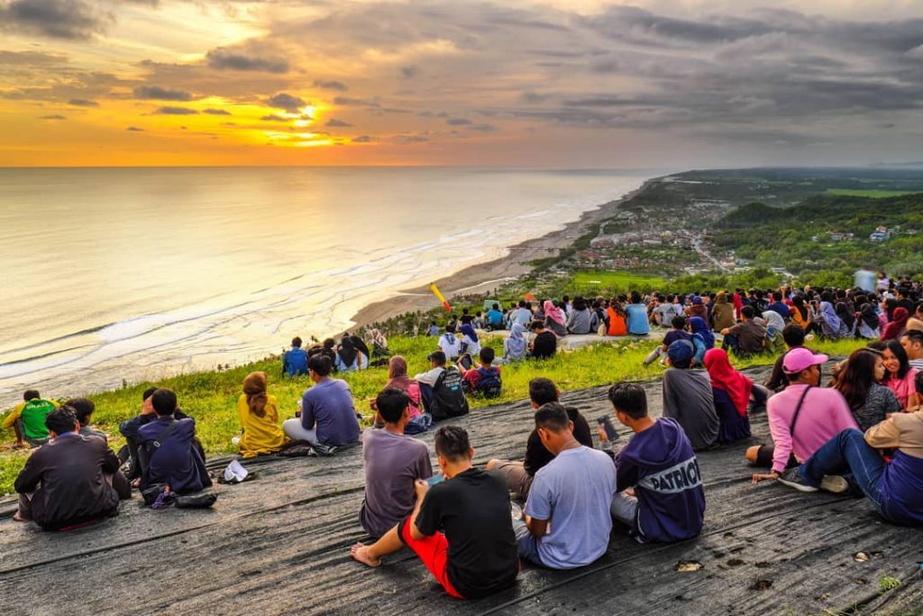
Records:
[[[308,359],[307,370],[314,382],[301,397],[301,417],[286,419],[282,431],[293,441],[341,447],[359,440],[353,393],[345,380],[330,379],[330,357]]]

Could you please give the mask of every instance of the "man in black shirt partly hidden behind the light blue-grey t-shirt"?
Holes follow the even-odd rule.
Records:
[[[555,383],[549,379],[537,378],[529,381],[529,399],[533,410],[538,410],[544,405],[557,403],[560,392]],[[565,407],[570,423],[573,425],[574,438],[581,445],[593,448],[593,437],[590,435],[590,426],[583,418],[580,411],[572,406]],[[525,458],[522,462],[511,460],[490,460],[487,470],[495,471],[505,477],[510,491],[519,494],[522,501],[529,499],[529,490],[532,488],[533,478],[539,469],[545,467],[555,459],[555,454],[545,449],[538,429],[533,429],[525,445]]]

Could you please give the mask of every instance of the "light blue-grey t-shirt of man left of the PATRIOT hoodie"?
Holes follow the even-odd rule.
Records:
[[[583,445],[566,449],[540,468],[525,513],[550,521],[551,532],[536,541],[542,564],[572,569],[602,556],[612,531],[609,509],[615,493],[616,467],[598,450]]]

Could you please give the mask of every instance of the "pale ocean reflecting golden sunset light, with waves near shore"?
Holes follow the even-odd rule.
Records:
[[[0,169],[0,407],[279,352],[650,172]]]

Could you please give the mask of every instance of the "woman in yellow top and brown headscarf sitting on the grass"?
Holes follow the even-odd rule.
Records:
[[[237,398],[237,417],[244,431],[237,447],[245,458],[276,453],[287,441],[279,425],[279,402],[266,393],[266,384],[265,372],[251,372]]]

